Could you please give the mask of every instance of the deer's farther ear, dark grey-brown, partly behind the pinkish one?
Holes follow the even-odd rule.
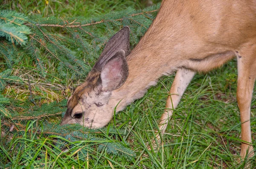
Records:
[[[95,63],[94,68],[101,71],[105,63],[120,50],[124,51],[125,56],[127,56],[130,52],[129,34],[130,28],[128,26],[123,27],[119,32],[114,34],[106,44],[98,61]]]

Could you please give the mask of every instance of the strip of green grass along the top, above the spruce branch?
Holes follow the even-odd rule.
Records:
[[[159,2],[159,0],[155,1]],[[4,0],[1,8],[23,14],[42,14],[44,17],[95,17],[110,11],[120,11],[128,6],[141,9],[147,5],[147,2],[147,0]]]

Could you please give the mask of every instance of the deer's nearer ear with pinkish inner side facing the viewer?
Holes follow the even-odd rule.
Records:
[[[103,66],[101,70],[103,91],[113,91],[125,83],[128,77],[128,64],[125,59],[125,51],[116,52]]]

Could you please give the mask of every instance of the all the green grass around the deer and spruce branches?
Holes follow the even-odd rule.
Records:
[[[15,9],[25,14],[40,12],[45,17],[52,15],[91,17],[112,10],[122,10],[128,6],[136,8],[146,6],[146,1],[138,3],[138,1],[118,0],[92,2],[49,0],[48,5],[46,1],[4,2],[1,8]],[[41,79],[36,74],[35,65],[28,57],[23,57],[13,74],[18,74],[21,79],[27,79],[29,76],[32,82],[37,82],[32,86],[37,103],[61,101],[69,97],[72,92],[71,86],[76,86],[80,82],[58,78],[55,63],[49,62],[47,56],[44,62],[48,62],[47,66],[50,68],[46,79]],[[93,65],[93,63],[90,64]],[[58,135],[45,136],[38,132],[44,129],[43,122],[59,123],[60,116],[28,121],[25,126],[18,126],[18,123],[14,123],[16,126],[13,126],[1,120],[2,128],[9,127],[7,132],[0,129],[1,166],[20,169],[242,169],[245,163],[238,162],[241,126],[236,103],[236,74],[235,60],[208,74],[197,74],[173,113],[166,134],[163,135],[163,144],[156,150],[152,150],[153,140],[174,76],[162,77],[143,98],[134,101],[125,110],[116,114],[108,126],[102,129],[104,132],[100,133],[101,137],[105,137],[103,141],[84,139],[72,142]],[[256,148],[255,93],[256,89],[254,89],[251,104],[254,149]],[[25,102],[29,97],[29,90],[25,85],[13,85],[7,87],[5,94]],[[12,135],[11,128],[20,131],[20,135]],[[117,132],[109,134],[108,129],[111,128],[116,129]],[[125,134],[122,134],[123,132]],[[9,140],[9,142],[3,140]],[[62,152],[62,149],[56,146],[58,144],[55,143],[56,141],[67,141],[70,149]],[[110,154],[107,146],[97,151],[103,142],[130,148],[135,152],[135,156]],[[151,150],[148,147],[151,147]],[[255,156],[249,159],[251,169],[256,168],[255,159]]]

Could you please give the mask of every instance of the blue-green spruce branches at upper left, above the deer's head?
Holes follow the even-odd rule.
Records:
[[[29,34],[29,41],[23,52],[33,58],[38,74],[42,77],[45,77],[47,72],[42,56],[47,54],[58,64],[60,77],[81,78],[90,71],[90,66],[86,62],[95,60],[99,56],[105,43],[116,30],[122,26],[130,26],[131,43],[136,44],[150,26],[158,8],[159,5],[143,10],[128,8],[90,19],[82,17],[45,19],[35,15],[27,18],[14,11],[3,10],[0,13],[2,15],[0,36],[6,37],[12,43],[24,45],[27,41],[26,34]],[[20,22],[21,19],[23,22]],[[14,22],[16,20],[17,22]],[[99,34],[102,29],[105,30],[104,35]],[[10,66],[12,60],[17,60],[19,55],[8,54],[6,51],[16,51],[15,48],[14,46],[13,49],[6,50],[0,47],[0,52],[9,59],[7,63]]]

